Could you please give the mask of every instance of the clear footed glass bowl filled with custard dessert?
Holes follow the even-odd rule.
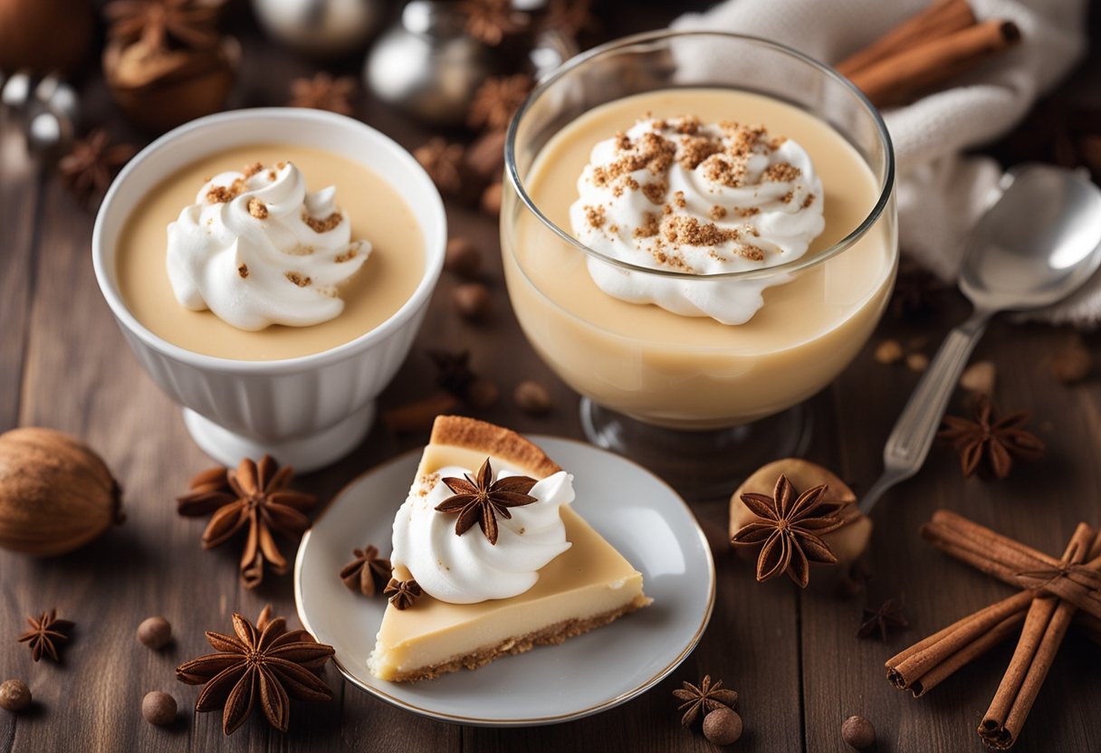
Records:
[[[597,161],[601,148],[593,148],[613,137],[623,143],[617,154],[633,149],[641,143],[633,127],[642,120],[672,133],[669,143],[686,143],[689,137],[678,133],[696,133],[684,126],[689,120],[718,123],[705,128],[728,135],[746,129],[727,121],[761,123],[766,132],[748,132],[764,133],[765,154],[780,154],[786,142],[776,137],[789,137],[791,149],[813,162],[813,168],[799,163],[808,181],[821,181],[808,183],[820,196],[797,195],[803,209],[814,205],[821,214],[820,232],[771,265],[739,262],[737,271],[710,274],[664,259],[643,265],[579,241],[578,207],[570,205],[584,200],[578,177],[593,174],[590,152]],[[505,172],[501,239],[509,295],[532,346],[582,395],[582,425],[593,444],[650,466],[694,496],[729,494],[749,470],[805,449],[809,414],[802,403],[832,382],[866,341],[897,265],[890,137],[851,84],[765,40],[672,31],[628,37],[574,58],[533,91],[510,127]],[[647,178],[640,172],[622,178],[634,188],[631,176]],[[734,238],[728,228],[757,234],[735,222],[757,209],[719,206],[716,192],[697,178],[677,179],[717,204],[709,218],[686,221],[713,230],[713,220]],[[742,189],[737,181],[726,185]],[[767,187],[750,188],[755,198]],[[684,192],[663,196],[650,198],[658,217],[663,201],[686,206]],[[688,197],[689,210],[696,198]],[[631,206],[651,206],[635,199]],[[778,200],[791,199],[788,192]],[[671,204],[666,216],[678,211]],[[588,229],[607,234],[621,209],[611,200],[585,206]],[[656,228],[657,218],[648,219]],[[759,221],[762,236],[770,232],[765,221]],[[642,218],[635,228],[635,239],[666,232],[665,225],[661,233],[647,232]],[[617,220],[610,232],[630,239],[629,230],[621,233]],[[763,253],[740,248],[767,258],[772,247],[764,240],[755,241]],[[723,314],[713,314],[717,308]]]

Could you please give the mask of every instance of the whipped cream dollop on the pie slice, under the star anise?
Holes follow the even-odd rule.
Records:
[[[456,516],[436,512],[453,492],[442,479],[473,477],[469,468],[440,468],[417,480],[394,517],[391,564],[410,571],[429,596],[455,604],[508,599],[539,579],[538,570],[568,549],[558,508],[574,501],[574,477],[566,471],[536,482],[527,492],[537,502],[510,508],[498,517],[497,544],[475,525],[455,534]],[[517,476],[498,470],[495,479]]]

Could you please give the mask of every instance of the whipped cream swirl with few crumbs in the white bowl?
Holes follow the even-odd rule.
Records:
[[[281,162],[210,178],[168,225],[166,261],[182,306],[258,330],[339,316],[338,287],[370,253],[368,241],[351,240],[336,188],[307,192],[298,168]]]

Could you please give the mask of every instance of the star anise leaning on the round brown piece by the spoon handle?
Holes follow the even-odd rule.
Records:
[[[820,537],[840,528],[844,520],[837,515],[840,504],[822,501],[825,493],[826,484],[820,484],[796,496],[792,482],[781,473],[771,498],[752,492],[742,494],[742,502],[759,520],[743,526],[731,542],[761,547],[759,582],[786,572],[806,588],[810,580],[809,563],[837,561]]]

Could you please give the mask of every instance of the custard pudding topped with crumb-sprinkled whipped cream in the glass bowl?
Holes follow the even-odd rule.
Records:
[[[889,298],[893,219],[868,222],[883,178],[780,99],[647,91],[516,160],[545,218],[506,192],[516,316],[564,380],[613,411],[699,429],[781,412],[838,375]]]

